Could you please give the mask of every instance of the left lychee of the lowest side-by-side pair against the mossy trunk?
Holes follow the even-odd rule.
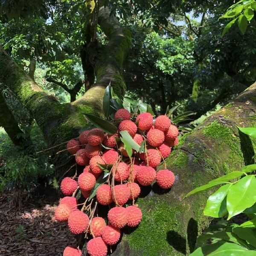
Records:
[[[116,206],[109,210],[108,221],[113,227],[122,228],[127,224],[126,208]]]

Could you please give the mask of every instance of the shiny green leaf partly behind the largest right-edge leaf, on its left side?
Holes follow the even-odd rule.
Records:
[[[231,186],[232,183],[221,186],[215,193],[209,196],[204,208],[204,215],[213,218],[221,218],[227,215],[227,192]]]

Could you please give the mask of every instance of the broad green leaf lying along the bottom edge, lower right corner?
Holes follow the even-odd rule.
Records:
[[[196,249],[189,256],[255,256],[255,251],[247,250],[238,244],[219,241]]]

